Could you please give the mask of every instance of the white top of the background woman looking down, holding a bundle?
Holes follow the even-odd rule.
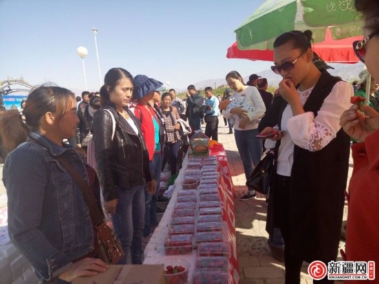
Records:
[[[245,86],[242,92],[235,92],[230,96],[231,102],[227,105],[227,109],[223,111],[225,119],[234,120],[234,129],[236,130],[252,130],[258,128],[258,123],[266,111],[265,103],[256,87]],[[247,111],[250,122],[245,128],[240,128],[240,118],[237,114],[230,113],[232,108],[242,106]]]

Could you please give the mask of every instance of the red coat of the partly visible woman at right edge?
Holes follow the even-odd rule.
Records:
[[[375,261],[379,277],[379,130],[353,145],[354,170],[349,185],[347,261]],[[361,281],[347,281],[349,284]]]

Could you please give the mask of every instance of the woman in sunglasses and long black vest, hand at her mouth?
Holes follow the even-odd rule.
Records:
[[[311,32],[286,32],[274,42],[272,70],[283,80],[261,132],[280,128],[267,231],[285,241],[286,283],[300,283],[303,261],[335,261],[349,167],[349,136],[339,117],[353,88],[313,63]],[[327,280],[322,280],[327,283]],[[320,281],[322,283],[322,281]]]

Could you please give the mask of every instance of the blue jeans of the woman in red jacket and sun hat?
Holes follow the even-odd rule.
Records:
[[[145,227],[143,228],[143,236],[148,236],[151,232],[151,227],[158,225],[158,219],[156,219],[156,199],[161,187],[159,181],[161,179],[161,153],[154,153],[152,161],[150,161],[150,171],[156,181],[155,194],[150,194],[145,190]]]

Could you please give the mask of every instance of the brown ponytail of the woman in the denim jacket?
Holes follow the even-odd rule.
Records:
[[[7,110],[0,119],[3,148],[11,152],[28,139],[29,130],[18,110]]]

